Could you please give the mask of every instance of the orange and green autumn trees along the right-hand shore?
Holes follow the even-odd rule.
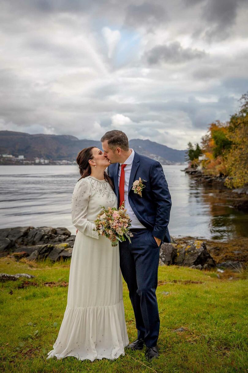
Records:
[[[211,123],[201,142],[203,173],[226,176],[229,188],[248,185],[248,93],[239,101],[239,112],[229,122]]]

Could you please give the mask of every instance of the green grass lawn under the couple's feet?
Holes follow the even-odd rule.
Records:
[[[159,267],[159,359],[147,362],[143,350],[93,363],[74,357],[46,360],[63,319],[68,288],[44,283],[68,282],[69,266],[70,260],[52,264],[0,259],[1,273],[36,276],[0,283],[1,372],[248,372],[247,272],[225,271],[219,279],[216,271],[178,266]],[[26,281],[36,285],[21,288]],[[125,283],[123,297],[133,341],[137,334]],[[173,331],[181,326],[186,331]]]

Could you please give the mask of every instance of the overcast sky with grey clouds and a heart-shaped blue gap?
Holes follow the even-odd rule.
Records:
[[[186,149],[248,91],[248,1],[0,0],[0,130]]]

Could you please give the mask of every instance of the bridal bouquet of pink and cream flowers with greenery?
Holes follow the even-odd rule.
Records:
[[[98,235],[104,233],[104,236],[110,238],[112,246],[117,246],[118,241],[123,242],[126,238],[131,243],[130,237],[133,237],[133,233],[129,232],[131,219],[124,205],[122,204],[119,210],[115,207],[108,207],[108,210],[104,206],[101,207],[93,231],[98,232]]]

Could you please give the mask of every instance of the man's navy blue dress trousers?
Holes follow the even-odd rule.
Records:
[[[161,244],[158,246],[148,229],[131,232],[131,244],[128,240],[119,242],[121,273],[129,290],[138,338],[144,339],[147,347],[154,347],[160,325],[156,288]]]

